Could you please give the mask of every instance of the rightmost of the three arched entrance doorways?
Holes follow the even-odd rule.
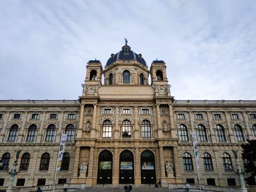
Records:
[[[140,155],[141,184],[156,184],[155,156],[150,150]]]

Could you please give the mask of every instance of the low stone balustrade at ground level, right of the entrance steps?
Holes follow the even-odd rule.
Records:
[[[168,184],[169,189],[200,189],[198,184],[189,184],[189,183],[176,183]],[[212,192],[240,192],[240,188],[236,187],[222,187],[222,186],[213,186],[213,185],[201,185],[202,191],[212,191]],[[190,190],[189,190],[190,191]]]

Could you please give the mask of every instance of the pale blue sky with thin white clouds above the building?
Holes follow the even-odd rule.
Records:
[[[78,99],[124,37],[176,100],[256,100],[255,0],[1,0],[0,100]]]

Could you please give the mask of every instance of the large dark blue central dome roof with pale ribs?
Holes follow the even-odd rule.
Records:
[[[106,66],[112,64],[116,60],[136,60],[144,66],[147,66],[146,61],[142,58],[141,54],[136,54],[130,48],[130,46],[125,45],[122,47],[122,50],[117,54],[111,54],[111,57],[108,59]]]

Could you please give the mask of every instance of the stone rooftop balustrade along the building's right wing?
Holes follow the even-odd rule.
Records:
[[[255,105],[256,101],[243,101],[243,100],[174,100],[175,104],[190,104],[190,105],[243,105],[251,104]]]

